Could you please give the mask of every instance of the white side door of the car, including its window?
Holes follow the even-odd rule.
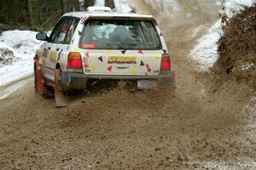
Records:
[[[65,41],[68,28],[71,23],[71,17],[64,16],[58,21],[54,30],[49,36],[49,41],[44,47],[44,53],[46,58],[43,59],[42,74],[46,80],[51,82],[55,81],[55,65],[58,53],[60,52],[60,46]]]

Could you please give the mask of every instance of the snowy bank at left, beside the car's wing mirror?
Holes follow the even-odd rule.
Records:
[[[33,72],[33,57],[42,42],[36,40],[35,31],[3,31],[0,48],[13,52],[15,60],[11,65],[0,65],[0,87]]]

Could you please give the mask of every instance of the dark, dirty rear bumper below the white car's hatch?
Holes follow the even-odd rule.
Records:
[[[157,76],[120,76],[120,75],[85,75],[82,73],[61,73],[61,87],[64,91],[71,89],[81,90],[86,88],[87,81],[89,79],[115,79],[115,80],[147,80],[147,79],[168,79],[175,81],[175,71],[171,71],[170,74],[157,75]]]

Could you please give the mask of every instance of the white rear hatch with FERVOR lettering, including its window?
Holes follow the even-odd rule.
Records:
[[[150,20],[87,20],[79,40],[84,74],[160,74],[162,43]]]

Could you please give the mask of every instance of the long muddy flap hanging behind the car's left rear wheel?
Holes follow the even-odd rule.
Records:
[[[61,70],[55,69],[55,106],[67,107],[67,96],[61,91]]]

